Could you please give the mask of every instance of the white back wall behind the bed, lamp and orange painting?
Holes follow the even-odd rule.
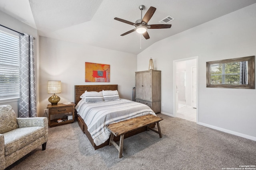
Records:
[[[85,82],[85,62],[110,64],[110,82]],[[118,84],[120,98],[132,100],[136,70],[136,55],[40,37],[40,115],[50,104],[48,80],[61,81],[61,103],[74,102],[74,85],[93,84]]]

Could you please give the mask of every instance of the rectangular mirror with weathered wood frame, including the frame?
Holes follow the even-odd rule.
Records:
[[[206,87],[255,89],[255,56],[206,62]]]

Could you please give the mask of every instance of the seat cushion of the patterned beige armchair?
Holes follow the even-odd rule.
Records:
[[[36,139],[44,136],[44,134],[45,128],[42,126],[22,127],[4,133],[5,155],[28,145]]]

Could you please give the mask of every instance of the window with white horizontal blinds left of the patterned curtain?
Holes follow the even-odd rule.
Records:
[[[20,96],[18,33],[0,30],[0,100]]]

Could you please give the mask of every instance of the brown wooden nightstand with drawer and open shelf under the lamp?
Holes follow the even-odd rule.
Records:
[[[71,102],[71,104],[57,104],[57,105],[52,105],[52,104],[48,104],[47,105],[47,109],[49,110],[49,126],[50,127],[54,127],[54,126],[60,126],[60,125],[65,125],[68,123],[73,123],[74,122],[74,115],[75,115],[75,105],[74,102]],[[60,114],[60,113],[70,113],[72,112],[72,120],[66,120],[66,121],[62,121],[62,122],[57,122],[58,119],[52,119],[51,120],[51,116],[52,115],[56,115],[56,114]]]

